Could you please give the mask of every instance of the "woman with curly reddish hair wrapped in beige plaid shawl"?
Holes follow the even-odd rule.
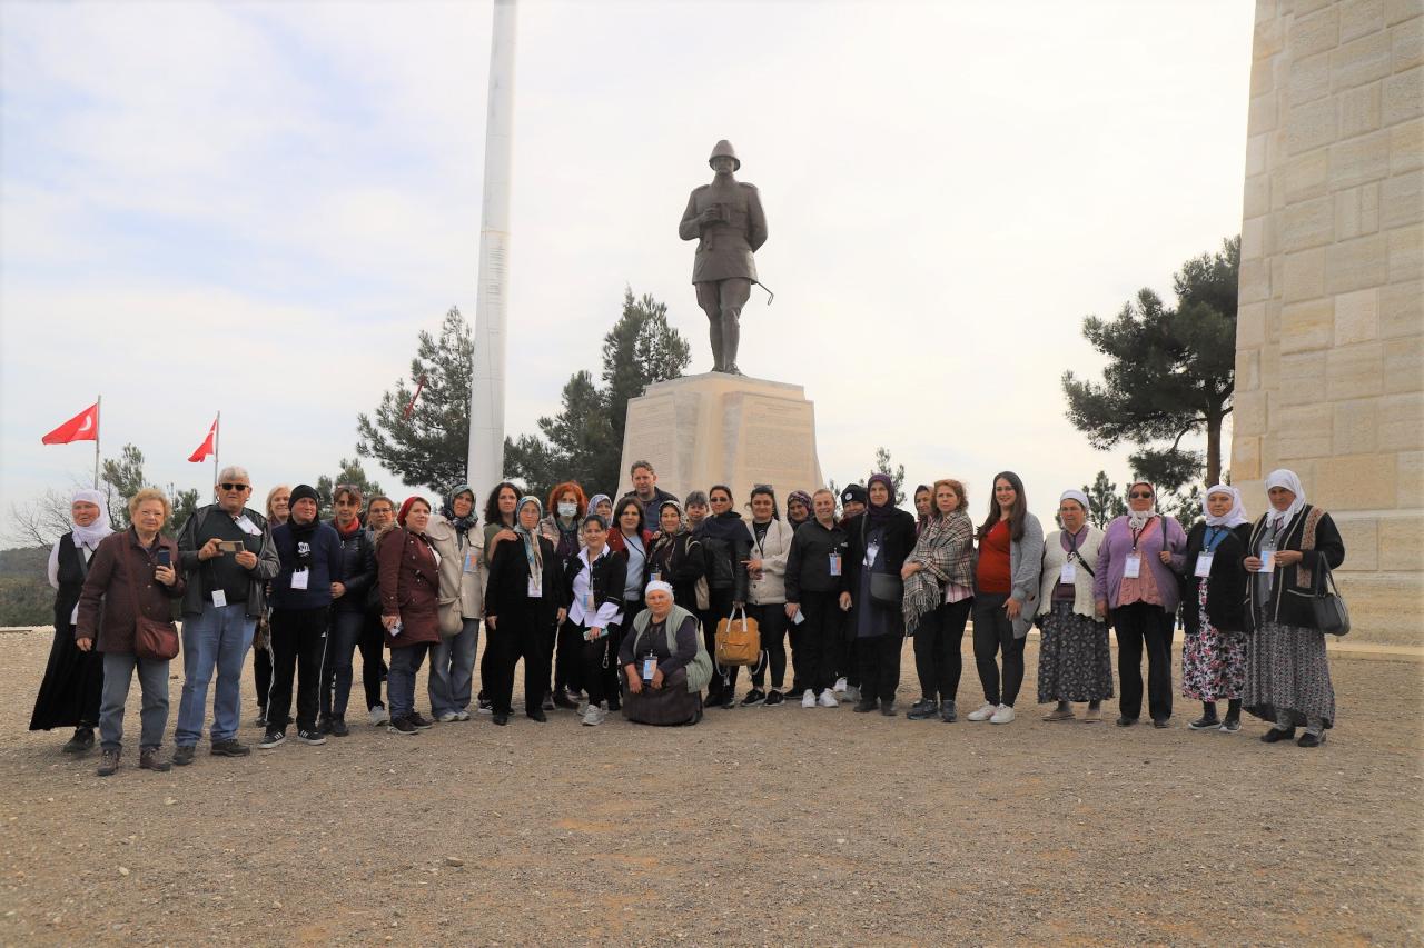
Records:
[[[964,670],[960,642],[974,605],[974,524],[964,510],[964,484],[940,480],[930,490],[934,512],[920,525],[914,549],[900,568],[904,625],[914,635],[920,676],[920,700],[906,717],[953,723]]]

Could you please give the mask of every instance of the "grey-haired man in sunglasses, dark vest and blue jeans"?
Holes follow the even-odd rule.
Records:
[[[194,762],[208,706],[208,682],[218,673],[208,737],[219,757],[242,757],[242,663],[262,615],[266,584],[281,561],[266,518],[251,510],[252,478],[225,467],[214,488],[216,504],[194,511],[178,534],[178,562],[188,588],[182,599],[182,700],[174,734],[174,763]]]

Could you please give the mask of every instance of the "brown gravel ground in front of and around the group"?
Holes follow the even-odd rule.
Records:
[[[323,747],[199,746],[167,774],[130,756],[100,780],[97,754],[58,753],[67,734],[24,730],[48,642],[0,636],[3,944],[1424,939],[1417,662],[1334,656],[1319,750],[1262,744],[1250,717],[1192,733],[1183,699],[1171,730],[1044,723],[1031,643],[1007,726],[846,706],[668,730],[362,720]],[[909,648],[903,673],[901,709]],[[961,715],[978,697],[965,653]]]

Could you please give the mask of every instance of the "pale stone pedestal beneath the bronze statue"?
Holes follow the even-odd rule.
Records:
[[[679,498],[726,484],[740,508],[756,484],[786,504],[795,490],[823,485],[816,460],[816,410],[800,386],[706,373],[648,386],[628,401],[619,494],[628,465],[651,461],[658,487]]]

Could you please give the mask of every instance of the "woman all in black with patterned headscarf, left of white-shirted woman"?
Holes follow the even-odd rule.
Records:
[[[490,658],[490,705],[496,725],[510,723],[514,666],[524,659],[524,713],[545,722],[544,689],[548,688],[548,653],[560,611],[558,562],[551,544],[538,531],[543,510],[537,497],[517,501],[514,539],[494,548],[484,595],[486,645]]]

